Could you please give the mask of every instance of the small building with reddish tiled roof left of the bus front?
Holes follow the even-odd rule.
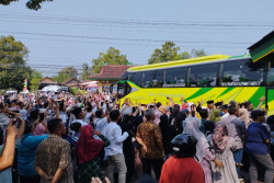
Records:
[[[118,81],[129,67],[133,66],[105,65],[102,67],[100,73],[91,75],[89,79],[92,81],[98,81],[100,92],[109,92],[111,83]]]

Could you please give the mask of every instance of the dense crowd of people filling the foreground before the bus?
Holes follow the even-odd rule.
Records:
[[[2,95],[0,182],[273,183],[274,116],[258,100],[253,108],[119,103],[100,92]]]

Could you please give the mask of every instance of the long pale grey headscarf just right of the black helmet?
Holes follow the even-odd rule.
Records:
[[[209,148],[209,144],[205,135],[199,130],[202,121],[197,117],[189,117],[183,134],[190,134],[197,138],[196,158],[201,162],[205,158],[205,149]]]

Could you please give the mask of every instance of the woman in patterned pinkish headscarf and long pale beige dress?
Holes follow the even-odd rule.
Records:
[[[213,165],[213,182],[214,183],[239,183],[233,152],[237,149],[237,144],[233,138],[228,137],[227,126],[218,124],[213,135],[213,147],[215,157],[221,161],[224,168]]]

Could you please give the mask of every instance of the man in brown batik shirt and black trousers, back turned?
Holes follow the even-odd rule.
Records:
[[[146,122],[139,125],[136,134],[137,141],[141,145],[141,161],[144,173],[151,175],[151,167],[159,181],[163,164],[163,145],[160,127],[153,124],[155,113],[152,110],[145,112]]]

